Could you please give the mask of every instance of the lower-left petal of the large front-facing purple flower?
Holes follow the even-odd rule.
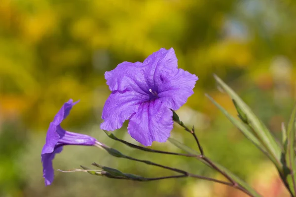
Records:
[[[101,124],[102,130],[114,131],[122,127],[124,121],[137,112],[139,103],[147,101],[149,96],[134,91],[114,91],[106,100]]]

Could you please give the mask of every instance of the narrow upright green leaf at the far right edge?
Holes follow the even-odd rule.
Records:
[[[287,151],[285,152],[285,158],[290,173],[287,174],[287,182],[290,187],[290,191],[293,196],[296,194],[296,164],[295,164],[295,121],[296,121],[296,105],[293,108],[287,130]]]

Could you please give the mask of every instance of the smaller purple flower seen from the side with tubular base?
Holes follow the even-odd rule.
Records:
[[[63,150],[64,145],[85,145],[92,146],[96,143],[96,139],[88,135],[65,131],[61,128],[60,124],[67,118],[72,107],[77,103],[70,99],[66,102],[57,115],[54,117],[53,122],[50,123],[46,134],[46,142],[43,146],[41,153],[41,162],[43,164],[43,177],[45,185],[50,185],[53,181],[54,171],[52,167],[52,160],[56,153]]]

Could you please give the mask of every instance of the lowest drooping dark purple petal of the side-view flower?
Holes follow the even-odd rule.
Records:
[[[45,186],[50,185],[53,182],[54,178],[54,170],[52,167],[52,160],[55,157],[56,153],[60,153],[63,150],[63,147],[60,146],[59,148],[55,149],[52,153],[42,154],[41,155],[41,162],[43,165],[43,177]]]

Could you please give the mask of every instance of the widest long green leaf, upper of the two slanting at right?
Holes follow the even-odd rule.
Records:
[[[247,124],[252,128],[262,146],[268,154],[271,155],[272,162],[276,165],[278,171],[281,174],[284,174],[284,165],[281,163],[282,149],[272,136],[271,132],[256,117],[249,106],[229,86],[227,86],[217,75],[214,75],[214,78],[221,88],[231,97],[231,99],[234,100],[239,115],[244,121],[247,121]]]

